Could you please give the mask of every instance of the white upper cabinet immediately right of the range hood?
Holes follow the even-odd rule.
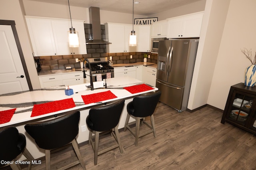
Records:
[[[106,45],[108,53],[136,52],[136,46],[129,46],[132,24],[106,23],[105,29],[106,39],[111,43]]]

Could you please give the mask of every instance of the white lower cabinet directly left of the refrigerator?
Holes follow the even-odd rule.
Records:
[[[156,68],[143,67],[142,73],[142,81],[156,87]]]

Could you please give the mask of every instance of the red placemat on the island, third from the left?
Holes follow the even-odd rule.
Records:
[[[100,93],[94,93],[91,95],[82,95],[81,96],[84,104],[90,104],[90,103],[96,103],[99,101],[105,101],[109,99],[114,99],[116,98],[116,95],[114,95],[110,90],[109,91],[104,91]]]

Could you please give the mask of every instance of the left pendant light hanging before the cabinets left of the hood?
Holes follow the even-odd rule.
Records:
[[[68,8],[69,8],[69,14],[70,14],[70,21],[71,21],[71,28],[69,28],[68,31],[68,43],[69,47],[79,47],[79,38],[78,38],[78,32],[75,28],[72,26],[72,20],[71,20],[71,13],[70,13],[70,6],[69,6],[69,0],[68,0]]]

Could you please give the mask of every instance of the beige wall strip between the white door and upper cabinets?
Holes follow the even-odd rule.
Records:
[[[30,47],[28,32],[26,31],[26,23],[23,17],[22,1],[18,0],[1,0],[0,20],[14,20],[16,30],[20,40],[20,45],[28,68],[28,73],[33,89],[39,89],[40,83],[36,72],[36,66]]]

